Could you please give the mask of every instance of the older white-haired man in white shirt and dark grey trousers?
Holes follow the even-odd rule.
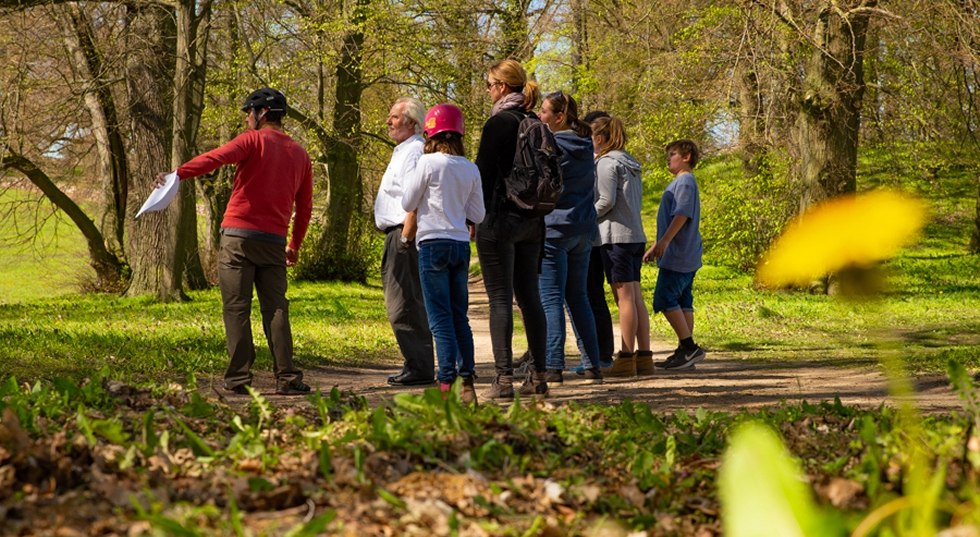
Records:
[[[374,199],[374,223],[385,233],[381,283],[388,322],[404,357],[401,373],[388,377],[393,386],[422,386],[434,382],[432,333],[425,315],[415,248],[415,213],[402,209],[403,185],[415,173],[422,156],[425,107],[418,99],[395,101],[388,113],[388,136],[395,141],[391,161]]]

